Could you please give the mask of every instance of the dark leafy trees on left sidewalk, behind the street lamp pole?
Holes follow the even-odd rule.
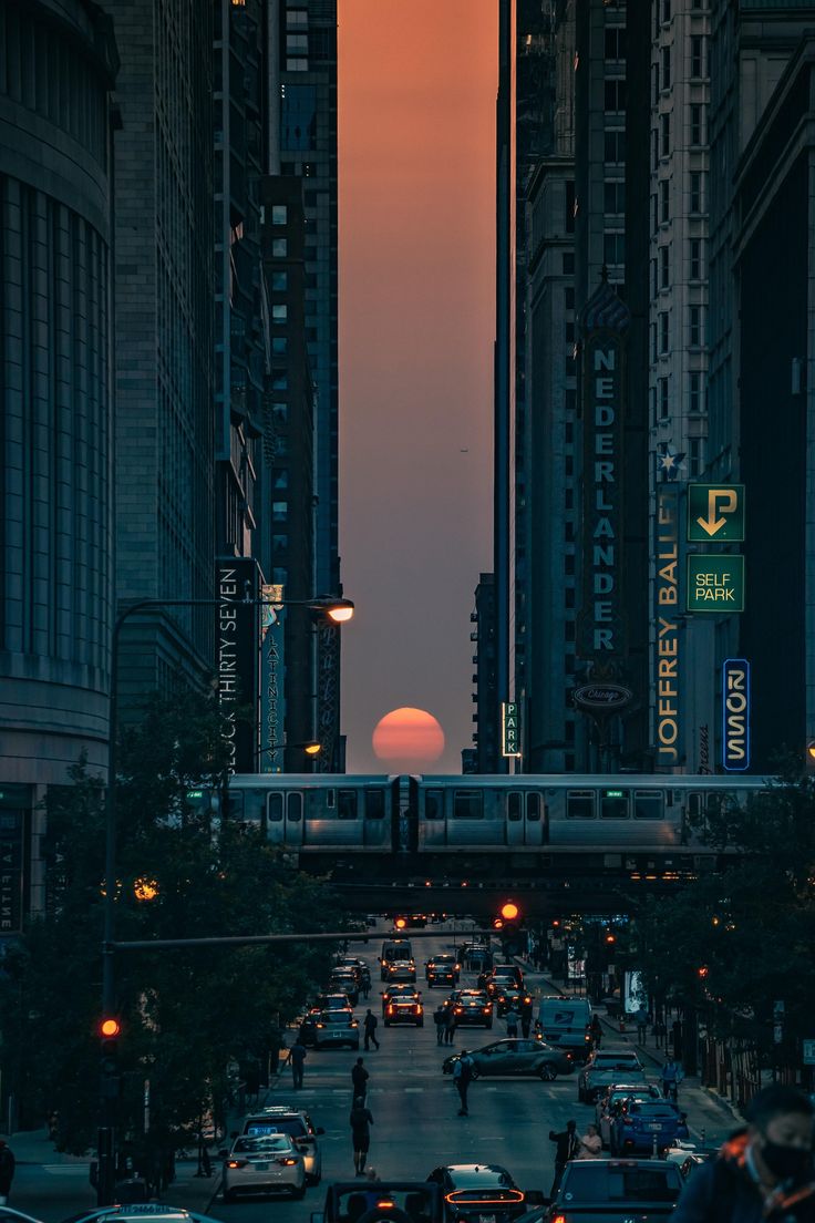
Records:
[[[222,818],[224,726],[182,695],[153,700],[121,736],[116,937],[194,938],[347,928],[326,884],[293,870],[257,826]],[[4,961],[6,1073],[24,1120],[59,1112],[61,1145],[93,1145],[98,1114],[105,790],[81,761],[48,799],[45,916]],[[206,806],[206,810],[204,807]],[[139,899],[139,896],[142,899]],[[279,1021],[327,975],[330,943],[117,953],[125,1125],[177,1131],[217,1114],[227,1064],[265,1064]]]

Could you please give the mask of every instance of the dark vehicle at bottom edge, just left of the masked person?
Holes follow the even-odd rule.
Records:
[[[670,1219],[682,1175],[666,1159],[573,1159],[567,1163],[547,1223],[655,1223]]]

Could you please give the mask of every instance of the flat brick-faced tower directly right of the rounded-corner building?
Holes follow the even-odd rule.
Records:
[[[116,593],[213,598],[213,5],[106,0],[122,57],[115,143]],[[120,697],[213,665],[208,608],[128,626]]]

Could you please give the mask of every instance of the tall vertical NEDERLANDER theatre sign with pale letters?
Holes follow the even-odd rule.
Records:
[[[589,335],[583,364],[583,608],[579,652],[611,662],[624,653],[623,345],[610,333]]]

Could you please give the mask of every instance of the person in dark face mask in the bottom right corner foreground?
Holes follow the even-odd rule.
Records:
[[[759,1091],[747,1126],[688,1180],[672,1223],[813,1223],[814,1112],[795,1087],[775,1082]]]

